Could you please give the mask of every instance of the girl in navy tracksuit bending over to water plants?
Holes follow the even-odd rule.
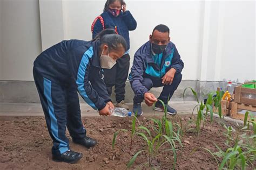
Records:
[[[74,143],[87,148],[96,145],[95,139],[86,136],[77,91],[100,115],[110,115],[114,106],[107,94],[102,68],[112,68],[125,49],[125,39],[107,29],[92,41],[59,42],[35,60],[33,76],[53,140],[53,160],[75,163],[83,157],[69,149],[66,127]]]

